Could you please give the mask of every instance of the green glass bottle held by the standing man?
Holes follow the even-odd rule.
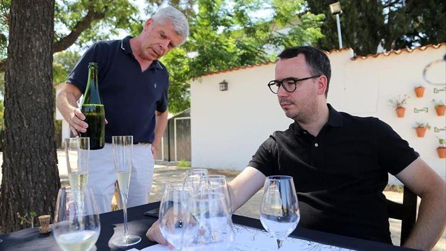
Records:
[[[97,63],[88,64],[88,82],[82,100],[81,112],[85,115],[88,124],[86,132],[81,132],[81,137],[90,137],[90,150],[104,148],[105,138],[105,110],[99,94]]]

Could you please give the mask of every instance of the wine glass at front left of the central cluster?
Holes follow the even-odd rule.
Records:
[[[179,251],[195,239],[199,227],[189,210],[185,196],[183,183],[166,184],[159,213],[161,233]]]

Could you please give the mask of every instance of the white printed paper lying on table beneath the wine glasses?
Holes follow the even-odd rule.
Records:
[[[277,242],[274,237],[264,230],[249,228],[234,224],[235,239],[233,249],[235,251],[277,251]],[[188,249],[189,250],[189,249]],[[353,251],[338,246],[330,246],[319,242],[287,237],[283,241],[280,251]],[[140,251],[171,251],[166,245],[153,245]]]

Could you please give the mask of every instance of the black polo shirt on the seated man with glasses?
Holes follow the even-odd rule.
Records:
[[[293,123],[274,132],[249,166],[266,176],[293,177],[299,226],[392,243],[383,194],[388,172],[399,173],[418,154],[381,120],[328,108],[316,137]]]

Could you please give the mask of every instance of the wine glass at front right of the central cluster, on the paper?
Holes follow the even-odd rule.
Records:
[[[201,190],[195,196],[192,207],[199,212],[199,235],[194,240],[194,250],[232,250],[234,228],[225,195]]]

